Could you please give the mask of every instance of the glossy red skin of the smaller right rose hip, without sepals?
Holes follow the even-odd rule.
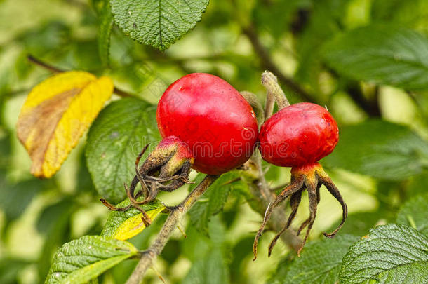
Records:
[[[338,140],[337,123],[327,109],[301,102],[281,109],[263,123],[259,149],[269,163],[301,167],[330,154]]]

